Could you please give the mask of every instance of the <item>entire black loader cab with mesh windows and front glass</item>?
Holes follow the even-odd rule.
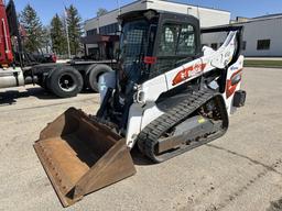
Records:
[[[192,15],[145,10],[119,19],[121,92],[202,56],[199,21]]]

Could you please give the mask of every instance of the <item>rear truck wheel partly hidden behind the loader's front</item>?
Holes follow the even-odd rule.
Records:
[[[98,80],[99,76],[112,71],[108,65],[91,65],[86,75],[87,87],[95,92],[99,92]]]

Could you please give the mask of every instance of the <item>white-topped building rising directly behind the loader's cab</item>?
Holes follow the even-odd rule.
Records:
[[[191,14],[200,20],[202,27],[229,24],[230,12],[224,10],[217,10],[212,8],[203,8],[197,5],[191,5],[185,3],[177,3],[171,1],[161,0],[139,0],[130,4],[127,4],[120,9],[108,12],[107,14],[87,20],[85,22],[85,31],[87,36],[94,36],[96,34],[109,35],[115,34],[119,30],[118,15],[135,11],[135,10],[162,10],[169,12]],[[86,53],[97,51],[97,44],[86,44]]]

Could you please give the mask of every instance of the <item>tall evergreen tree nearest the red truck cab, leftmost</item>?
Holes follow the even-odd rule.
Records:
[[[43,27],[36,11],[28,4],[20,14],[21,25],[26,32],[23,45],[28,52],[39,52],[42,47]]]

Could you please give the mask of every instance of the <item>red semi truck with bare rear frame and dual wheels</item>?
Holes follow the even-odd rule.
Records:
[[[74,59],[65,64],[40,64],[22,45],[13,0],[0,0],[0,88],[39,85],[59,98],[77,96],[83,89],[98,91],[100,75],[112,71],[115,59]]]

